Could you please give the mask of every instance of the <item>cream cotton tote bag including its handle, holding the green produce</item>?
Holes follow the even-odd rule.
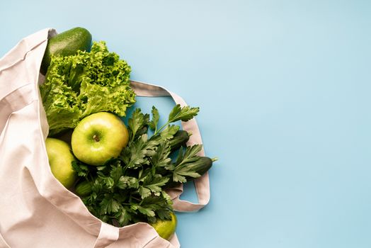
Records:
[[[176,235],[168,242],[144,222],[125,227],[102,222],[52,175],[38,84],[47,39],[55,34],[40,30],[0,60],[0,247],[180,247]],[[137,96],[171,96],[186,104],[160,86],[132,81],[132,88]],[[182,125],[193,133],[189,145],[202,144],[195,120]],[[198,203],[179,198],[182,186],[169,190],[175,210],[195,211],[208,203],[207,174],[195,181],[195,188]]]

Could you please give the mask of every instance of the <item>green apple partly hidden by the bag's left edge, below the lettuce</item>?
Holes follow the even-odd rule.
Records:
[[[66,142],[51,137],[45,140],[45,147],[52,174],[66,188],[72,187],[76,180],[76,172],[72,168],[75,158],[71,147]]]

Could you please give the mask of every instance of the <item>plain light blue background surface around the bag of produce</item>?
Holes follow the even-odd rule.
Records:
[[[0,56],[83,26],[200,106],[219,161],[210,204],[178,214],[182,247],[371,247],[370,1],[1,1],[0,23]]]

